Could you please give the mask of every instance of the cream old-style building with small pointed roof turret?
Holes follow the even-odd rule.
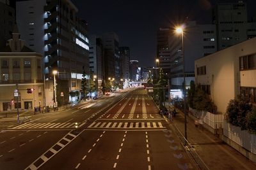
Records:
[[[45,106],[42,55],[25,46],[17,29],[13,32],[8,45],[0,49],[0,111]]]

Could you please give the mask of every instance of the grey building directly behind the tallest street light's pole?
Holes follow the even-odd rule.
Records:
[[[183,89],[185,62],[186,89],[191,80],[195,80],[194,62],[216,52],[216,28],[215,25],[197,25],[196,22],[188,22],[184,29],[184,56],[182,53],[182,37],[179,34],[170,36],[170,62],[171,62],[171,89]],[[184,62],[183,62],[183,57]]]

